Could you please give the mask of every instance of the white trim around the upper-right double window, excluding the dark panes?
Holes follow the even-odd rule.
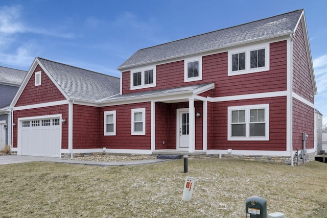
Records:
[[[265,49],[265,66],[250,68],[250,52],[255,50]],[[231,56],[245,52],[245,69],[243,70],[231,70],[232,60]],[[228,76],[236,76],[243,74],[252,74],[253,72],[263,72],[270,70],[270,43],[262,42],[259,44],[252,44],[248,46],[237,47],[228,51]]]

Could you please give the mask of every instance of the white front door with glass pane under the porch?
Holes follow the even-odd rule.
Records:
[[[189,108],[177,109],[177,149],[189,149],[190,114]]]

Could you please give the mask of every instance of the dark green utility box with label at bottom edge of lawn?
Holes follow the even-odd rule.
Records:
[[[246,218],[268,218],[267,201],[259,196],[252,196],[246,199]]]

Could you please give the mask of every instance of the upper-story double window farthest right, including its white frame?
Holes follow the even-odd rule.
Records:
[[[228,51],[228,76],[269,70],[269,43],[259,43]]]

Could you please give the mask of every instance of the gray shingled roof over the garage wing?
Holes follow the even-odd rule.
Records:
[[[120,93],[120,79],[37,57],[69,98],[99,101]]]

